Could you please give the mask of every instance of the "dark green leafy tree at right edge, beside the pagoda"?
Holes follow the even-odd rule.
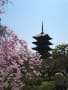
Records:
[[[68,67],[68,44],[57,45],[53,49],[53,71]],[[68,69],[68,68],[67,68]]]

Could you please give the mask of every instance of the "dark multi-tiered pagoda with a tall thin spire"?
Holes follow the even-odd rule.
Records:
[[[33,36],[33,38],[36,40],[36,42],[32,42],[36,45],[36,47],[32,48],[33,50],[37,51],[41,54],[41,57],[43,59],[47,59],[51,56],[50,51],[52,50],[50,48],[50,45],[52,43],[50,40],[52,39],[48,34],[45,34],[43,31],[43,23],[42,23],[42,31],[40,34]]]

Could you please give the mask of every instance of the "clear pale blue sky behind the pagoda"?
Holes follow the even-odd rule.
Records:
[[[11,0],[6,5],[1,23],[12,29],[32,48],[32,36],[44,32],[53,46],[68,43],[68,0]]]

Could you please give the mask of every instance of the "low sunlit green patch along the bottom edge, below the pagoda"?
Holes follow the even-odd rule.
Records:
[[[55,90],[55,82],[45,81],[41,85],[27,86],[24,90]]]

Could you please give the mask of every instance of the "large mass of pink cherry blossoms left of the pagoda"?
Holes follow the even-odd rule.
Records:
[[[9,28],[1,27],[0,90],[21,90],[33,73],[40,75],[42,60],[38,53],[29,51],[26,41],[19,40]]]

